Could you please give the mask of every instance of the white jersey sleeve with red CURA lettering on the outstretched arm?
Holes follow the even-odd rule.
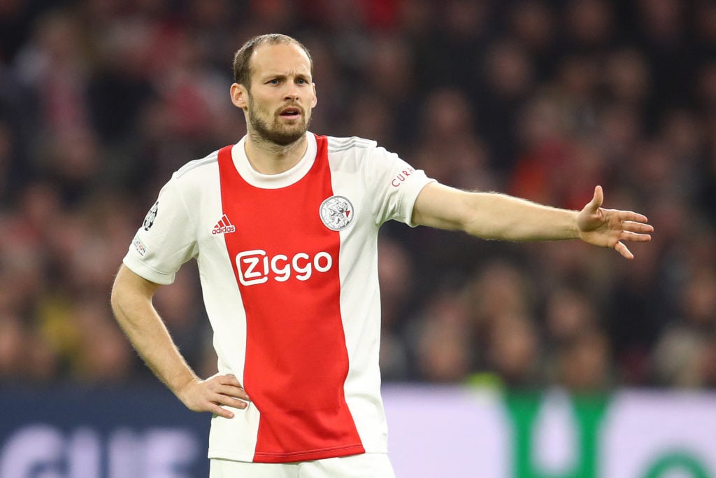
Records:
[[[366,167],[367,188],[377,224],[392,219],[415,227],[412,209],[417,195],[427,183],[435,180],[382,147],[372,148]]]

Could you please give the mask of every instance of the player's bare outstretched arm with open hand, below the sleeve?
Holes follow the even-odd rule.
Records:
[[[649,241],[654,228],[647,224],[646,216],[603,209],[603,202],[601,186],[594,188],[594,198],[584,209],[570,211],[505,194],[460,191],[430,183],[417,196],[412,217],[415,224],[461,230],[483,239],[581,239],[633,259],[624,241]]]

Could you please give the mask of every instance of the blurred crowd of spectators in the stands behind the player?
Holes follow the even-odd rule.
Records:
[[[649,216],[629,262],[386,224],[385,381],[716,387],[716,3],[0,1],[0,385],[151,379],[109,294],[159,188],[245,133],[233,52],[304,42],[311,130],[429,176]],[[155,305],[216,371],[195,264]]]

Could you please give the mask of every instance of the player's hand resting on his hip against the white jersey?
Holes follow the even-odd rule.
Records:
[[[195,379],[177,393],[180,400],[192,411],[211,411],[212,414],[233,418],[233,412],[221,405],[246,408],[248,394],[233,375],[215,375],[207,380]]]

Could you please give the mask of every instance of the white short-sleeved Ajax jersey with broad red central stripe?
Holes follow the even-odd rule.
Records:
[[[198,262],[219,373],[251,403],[214,417],[209,457],[299,462],[387,451],[377,236],[411,224],[431,180],[361,138],[306,133],[294,168],[253,170],[244,140],[162,188],[124,263],[173,282]]]

